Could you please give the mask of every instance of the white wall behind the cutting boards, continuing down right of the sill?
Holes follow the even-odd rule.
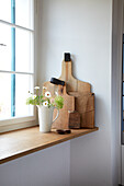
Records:
[[[112,0],[41,1],[38,83],[60,75],[70,51],[74,74],[92,84],[99,131],[70,141],[71,186],[112,185]]]

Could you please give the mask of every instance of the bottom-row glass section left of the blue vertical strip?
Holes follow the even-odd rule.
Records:
[[[0,73],[0,119],[11,117],[11,74]]]

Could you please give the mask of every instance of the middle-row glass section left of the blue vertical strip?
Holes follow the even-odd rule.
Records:
[[[11,27],[0,23],[0,70],[11,70]]]

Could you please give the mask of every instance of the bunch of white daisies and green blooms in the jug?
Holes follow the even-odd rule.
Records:
[[[52,97],[50,92],[47,91],[47,88],[43,86],[43,91],[40,94],[40,86],[34,88],[36,90],[36,94],[30,93],[30,97],[26,100],[27,105],[43,105],[45,107],[50,108],[56,107],[58,109],[64,106],[64,98],[59,96],[56,92],[56,96]]]

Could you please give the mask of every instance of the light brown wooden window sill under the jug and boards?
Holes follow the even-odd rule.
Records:
[[[98,129],[98,127],[93,129],[75,129],[69,135],[58,135],[55,130],[42,133],[38,127],[32,127],[2,133],[0,135],[0,164],[97,131]]]

